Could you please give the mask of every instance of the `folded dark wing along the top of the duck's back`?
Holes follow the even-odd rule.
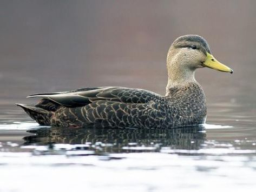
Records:
[[[122,103],[147,103],[162,96],[143,89],[123,87],[82,88],[73,91],[33,94],[28,97],[41,97],[64,107],[82,107],[89,103],[106,100]]]

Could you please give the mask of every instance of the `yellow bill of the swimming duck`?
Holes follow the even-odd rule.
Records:
[[[233,73],[233,70],[226,65],[218,62],[211,54],[207,52],[206,61],[203,63],[205,67],[212,68],[218,71],[230,72]]]

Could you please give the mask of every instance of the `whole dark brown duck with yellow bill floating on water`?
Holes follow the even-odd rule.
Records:
[[[36,105],[16,104],[40,125],[65,128],[179,128],[206,122],[206,96],[195,70],[233,73],[199,35],[180,36],[167,53],[166,94],[125,87],[93,87],[32,94]]]

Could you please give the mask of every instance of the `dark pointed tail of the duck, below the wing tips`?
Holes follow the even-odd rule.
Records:
[[[40,125],[50,125],[50,118],[52,115],[51,111],[47,111],[45,109],[35,107],[34,105],[28,105],[28,104],[19,104],[17,103],[19,107],[21,107],[27,114],[35,120]]]

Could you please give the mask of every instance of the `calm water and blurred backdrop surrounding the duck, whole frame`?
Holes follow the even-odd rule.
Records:
[[[255,1],[1,1],[0,191],[254,191]],[[200,69],[207,124],[40,127],[36,92],[122,86],[165,94],[166,52],[204,36],[234,70]]]

